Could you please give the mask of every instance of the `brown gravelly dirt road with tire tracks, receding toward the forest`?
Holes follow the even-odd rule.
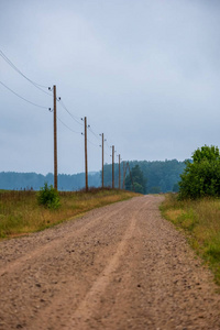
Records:
[[[0,243],[0,329],[220,329],[220,295],[145,196]]]

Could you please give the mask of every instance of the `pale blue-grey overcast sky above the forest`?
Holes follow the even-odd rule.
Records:
[[[53,85],[58,173],[84,172],[84,117],[89,170],[101,167],[99,133],[106,163],[112,144],[124,161],[220,145],[219,0],[0,0],[0,41],[43,86],[0,56],[0,172],[53,173]]]

